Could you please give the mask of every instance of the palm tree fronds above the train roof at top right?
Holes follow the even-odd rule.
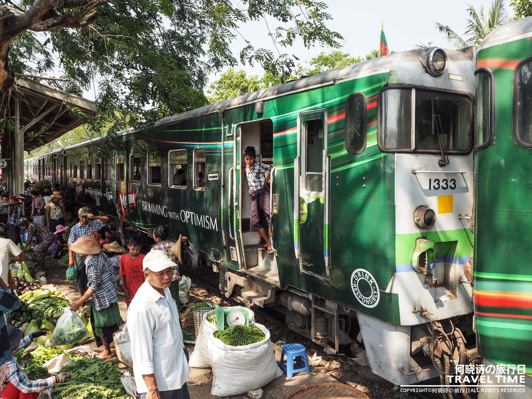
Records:
[[[508,14],[504,10],[504,0],[493,0],[486,13],[484,6],[480,7],[477,13],[475,7],[469,5],[469,16],[466,38],[463,38],[453,29],[442,23],[436,22],[439,31],[447,36],[447,39],[454,43],[457,48],[479,45],[482,39],[496,27],[508,22]]]

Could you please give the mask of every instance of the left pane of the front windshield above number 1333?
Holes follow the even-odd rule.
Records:
[[[385,151],[414,149],[411,114],[412,89],[391,89],[381,93],[379,144]]]

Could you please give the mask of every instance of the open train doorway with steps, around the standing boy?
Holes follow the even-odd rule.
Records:
[[[232,180],[236,212],[231,215],[236,222],[234,238],[237,242],[240,268],[248,270],[250,274],[267,280],[272,284],[279,285],[277,271],[277,258],[273,253],[259,251],[264,240],[257,231],[250,229],[251,195],[250,186],[245,172],[245,161],[242,155],[247,145],[255,147],[257,154],[255,162],[271,165],[273,167],[273,122],[270,119],[241,123],[235,128],[236,151],[234,155],[235,173]],[[273,191],[275,190],[275,168],[270,173],[270,214],[271,231],[270,240],[275,237],[275,218],[273,218]],[[273,180],[273,181],[272,181]],[[273,242],[275,248],[276,243]]]

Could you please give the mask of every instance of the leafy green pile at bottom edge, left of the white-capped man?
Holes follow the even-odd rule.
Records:
[[[54,386],[53,399],[132,399],[124,390],[118,365],[98,358],[83,358],[63,366],[72,379]]]

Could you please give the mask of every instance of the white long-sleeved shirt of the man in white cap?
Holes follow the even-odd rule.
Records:
[[[164,295],[144,281],[128,309],[133,372],[138,393],[148,389],[142,375],[153,374],[159,391],[181,389],[190,378],[179,313],[170,290]]]

